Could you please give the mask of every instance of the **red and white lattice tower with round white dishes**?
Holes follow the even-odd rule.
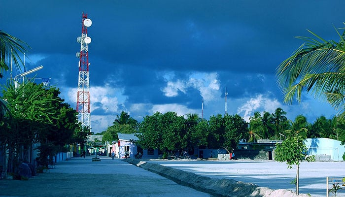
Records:
[[[81,125],[91,129],[89,88],[90,64],[88,56],[88,44],[91,43],[91,38],[87,35],[87,28],[91,26],[92,21],[87,18],[87,14],[83,13],[81,24],[81,36],[77,37],[77,42],[80,43],[80,52],[76,53],[76,56],[79,58],[79,78],[76,111],[78,112],[78,120]]]

